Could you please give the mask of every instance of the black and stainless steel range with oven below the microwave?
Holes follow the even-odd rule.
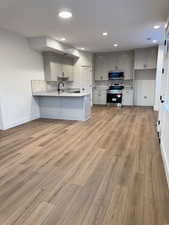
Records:
[[[122,90],[124,86],[119,84],[114,84],[107,90],[107,103],[116,104],[117,106],[122,105]]]

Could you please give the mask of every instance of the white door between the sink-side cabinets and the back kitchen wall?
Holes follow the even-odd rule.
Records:
[[[90,93],[90,101],[92,105],[92,67],[81,66],[81,91]]]

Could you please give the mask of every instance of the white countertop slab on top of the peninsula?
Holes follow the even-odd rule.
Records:
[[[33,96],[53,96],[53,97],[84,97],[89,95],[89,93],[81,92],[81,93],[69,93],[69,92],[57,92],[57,91],[41,91],[41,92],[33,92]]]

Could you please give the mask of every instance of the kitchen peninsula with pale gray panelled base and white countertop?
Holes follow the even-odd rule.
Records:
[[[41,118],[86,121],[91,116],[88,93],[41,91],[32,95],[38,100]]]

